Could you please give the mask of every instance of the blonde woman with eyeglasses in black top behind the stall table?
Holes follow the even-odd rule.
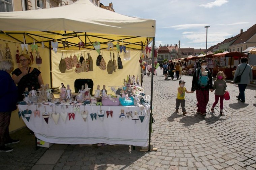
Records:
[[[12,79],[18,84],[18,100],[22,101],[25,88],[30,91],[34,87],[34,90],[37,90],[43,84],[43,79],[38,69],[30,67],[32,61],[28,54],[21,54],[20,62],[21,67],[12,72]]]

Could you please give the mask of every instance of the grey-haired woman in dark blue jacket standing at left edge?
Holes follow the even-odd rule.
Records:
[[[0,61],[0,152],[11,152],[13,149],[6,145],[20,142],[18,139],[11,139],[8,128],[11,112],[17,109],[18,99],[17,86],[10,76],[13,68],[11,60]]]

